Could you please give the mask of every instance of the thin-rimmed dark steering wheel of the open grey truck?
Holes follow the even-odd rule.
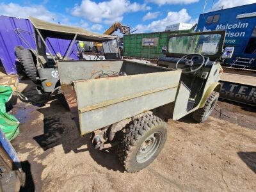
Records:
[[[193,58],[195,58],[197,56],[199,56],[202,59],[198,60],[198,61],[193,60]],[[178,68],[178,65],[179,65],[180,61],[183,60],[183,59],[187,59],[188,57],[189,58],[191,57],[191,59],[186,61],[185,68],[184,67]],[[202,61],[202,63],[200,63],[199,61]],[[201,67],[203,67],[204,62],[205,62],[205,58],[204,58],[204,56],[202,56],[202,54],[198,54],[198,53],[186,54],[185,56],[180,58],[179,61],[177,61],[176,69],[177,70],[182,70],[182,73],[188,74],[188,73],[196,72],[197,70],[199,70]],[[195,65],[200,65],[200,66],[193,70],[192,67],[195,66]],[[189,71],[185,71],[187,68],[189,68]]]

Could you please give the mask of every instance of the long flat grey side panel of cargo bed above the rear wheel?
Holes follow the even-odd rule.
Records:
[[[180,71],[74,81],[81,134],[175,100]]]

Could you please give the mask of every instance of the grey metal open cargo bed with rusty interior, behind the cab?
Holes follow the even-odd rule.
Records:
[[[81,134],[92,132],[175,100],[180,70],[131,61],[60,61],[61,90],[78,112]],[[123,72],[126,76],[99,77]]]

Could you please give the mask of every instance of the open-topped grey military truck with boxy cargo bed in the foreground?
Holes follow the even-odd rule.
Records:
[[[225,31],[170,36],[159,66],[57,61],[61,90],[79,118],[80,134],[92,133],[95,148],[117,146],[127,172],[147,167],[164,146],[168,119],[192,114],[204,122],[214,109],[224,38]]]

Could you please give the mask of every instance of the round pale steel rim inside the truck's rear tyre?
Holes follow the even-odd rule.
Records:
[[[156,154],[157,148],[159,148],[162,137],[160,132],[154,132],[148,136],[141,144],[136,154],[136,161],[138,163],[145,163],[154,154]]]

